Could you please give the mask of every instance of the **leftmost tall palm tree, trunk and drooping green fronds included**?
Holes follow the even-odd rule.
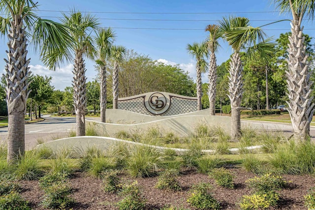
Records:
[[[6,101],[8,107],[8,152],[7,161],[11,162],[25,149],[24,114],[26,101],[31,90],[30,59],[27,59],[28,39],[32,39],[35,50],[40,50],[43,63],[50,69],[56,69],[63,58],[70,59],[67,46],[72,43],[68,29],[60,23],[41,19],[36,16],[37,2],[32,0],[0,1],[0,32],[8,36],[4,59],[6,80]],[[49,56],[55,52],[55,56]],[[64,57],[65,55],[65,57]]]

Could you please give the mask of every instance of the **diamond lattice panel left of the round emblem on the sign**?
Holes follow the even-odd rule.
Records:
[[[119,101],[118,109],[127,110],[144,115],[151,115],[150,112],[144,107],[144,96],[138,98],[132,98],[129,100]]]

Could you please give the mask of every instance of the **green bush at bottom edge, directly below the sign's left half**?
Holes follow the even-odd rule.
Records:
[[[117,203],[119,210],[145,210],[146,200],[137,181],[124,185],[120,194],[125,197]]]

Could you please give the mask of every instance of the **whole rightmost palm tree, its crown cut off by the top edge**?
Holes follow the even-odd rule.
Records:
[[[291,117],[293,132],[296,140],[306,140],[310,134],[310,122],[313,118],[314,106],[312,103],[308,56],[305,54],[303,27],[304,16],[314,18],[315,0],[274,0],[281,12],[290,11],[293,16],[288,45],[288,67],[286,71],[287,90],[289,101],[288,112]]]

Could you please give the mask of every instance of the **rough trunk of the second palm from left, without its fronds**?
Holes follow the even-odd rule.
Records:
[[[76,136],[85,136],[86,80],[82,50],[76,50],[73,69],[73,99],[76,114]]]

